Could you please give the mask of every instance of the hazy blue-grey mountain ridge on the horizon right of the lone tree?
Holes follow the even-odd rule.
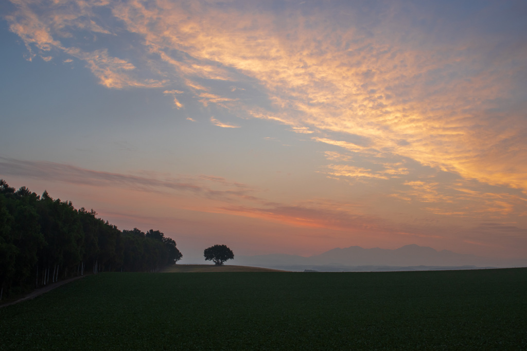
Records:
[[[427,269],[473,269],[478,267],[527,266],[527,259],[496,259],[450,250],[437,251],[432,247],[415,244],[397,249],[362,248],[350,246],[334,248],[320,255],[302,257],[287,254],[235,256],[234,264],[269,268],[281,267],[289,270],[427,270]]]

